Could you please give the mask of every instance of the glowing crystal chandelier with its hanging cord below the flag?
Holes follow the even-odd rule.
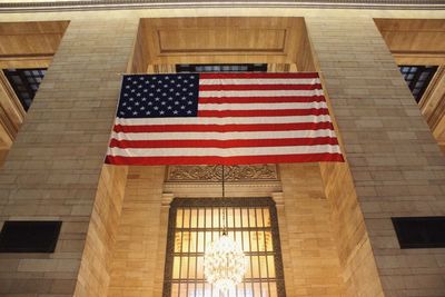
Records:
[[[222,199],[225,198],[225,176],[222,166]],[[204,255],[204,275],[208,283],[226,293],[243,281],[247,258],[243,248],[227,234],[227,206],[222,210],[222,235],[211,242]]]

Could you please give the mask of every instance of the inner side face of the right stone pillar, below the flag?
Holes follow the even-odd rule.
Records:
[[[346,296],[384,296],[365,220],[346,164],[322,164]]]

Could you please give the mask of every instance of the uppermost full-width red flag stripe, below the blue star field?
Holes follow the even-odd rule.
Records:
[[[290,122],[290,123],[255,123],[255,125],[116,125],[115,132],[241,132],[241,131],[288,131],[288,130],[334,130],[330,121]]]

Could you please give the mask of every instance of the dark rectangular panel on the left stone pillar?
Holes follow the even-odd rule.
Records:
[[[4,221],[0,253],[53,253],[61,221]]]

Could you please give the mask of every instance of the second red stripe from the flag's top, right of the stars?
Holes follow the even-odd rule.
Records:
[[[199,85],[199,91],[322,90],[322,85]]]

